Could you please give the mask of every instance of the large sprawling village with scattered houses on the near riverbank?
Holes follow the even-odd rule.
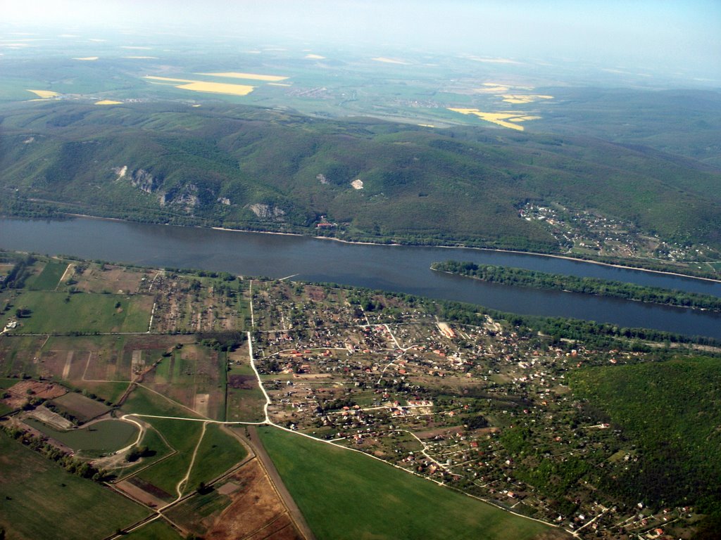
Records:
[[[371,292],[255,282],[252,304],[273,423],[583,538],[658,538],[690,517],[688,508],[598,500],[589,482],[575,482],[581,462],[636,458],[574,399],[570,374],[640,354],[554,345],[490,317],[451,325]],[[539,474],[544,465],[554,472]]]

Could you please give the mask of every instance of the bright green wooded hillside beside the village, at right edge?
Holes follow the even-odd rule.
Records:
[[[582,369],[571,388],[586,413],[621,430],[631,458],[603,487],[645,504],[721,513],[721,363],[676,359]]]

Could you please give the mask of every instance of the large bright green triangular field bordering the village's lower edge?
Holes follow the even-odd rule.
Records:
[[[277,428],[259,433],[319,540],[523,540],[549,530],[357,452]]]

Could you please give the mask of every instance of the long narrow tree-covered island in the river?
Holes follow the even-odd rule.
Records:
[[[695,309],[721,311],[721,298],[710,294],[663,289],[662,287],[646,287],[632,283],[616,282],[610,279],[593,277],[568,276],[565,274],[549,274],[536,270],[478,265],[472,262],[445,261],[434,263],[433,270],[459,274],[480,279],[483,282],[515,285],[517,287],[533,287],[534,289],[556,289],[583,294],[598,294],[652,304],[692,307]]]

